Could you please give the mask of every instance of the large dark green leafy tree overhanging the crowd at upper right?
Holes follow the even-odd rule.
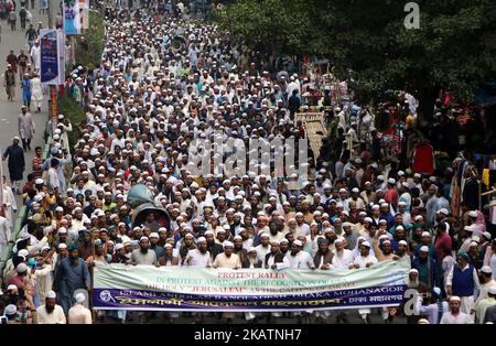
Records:
[[[238,0],[220,26],[248,45],[327,57],[365,96],[405,89],[429,119],[440,88],[470,99],[496,72],[492,0],[419,0],[420,29],[403,25],[408,1]]]

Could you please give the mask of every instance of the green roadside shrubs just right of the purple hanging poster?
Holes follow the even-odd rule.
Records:
[[[89,11],[89,29],[84,34],[88,43],[88,50],[80,45],[80,37],[76,37],[76,65],[87,66],[89,69],[95,69],[99,66],[101,52],[104,51],[104,13],[94,10]]]

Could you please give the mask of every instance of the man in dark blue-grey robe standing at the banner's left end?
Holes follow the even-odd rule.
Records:
[[[74,292],[79,289],[90,289],[88,266],[79,257],[79,251],[74,245],[71,245],[68,253],[68,257],[62,259],[53,283],[53,289],[58,292],[58,301],[65,314],[74,305]]]

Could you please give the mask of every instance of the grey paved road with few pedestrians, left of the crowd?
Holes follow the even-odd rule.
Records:
[[[44,28],[47,26],[47,14],[39,14],[39,3],[40,1],[36,1],[35,9],[31,10],[30,12],[33,14],[33,24],[36,28],[39,22],[43,22]],[[19,4],[19,3],[18,3]],[[19,13],[20,7],[18,6],[18,13]],[[0,74],[3,78],[3,73],[7,68],[7,55],[9,55],[10,50],[13,50],[17,55],[20,54],[21,50],[24,50],[24,52],[29,55],[29,46],[28,46],[28,40],[25,39],[25,32],[21,32],[21,23],[19,20],[18,14],[18,23],[17,23],[17,31],[11,31],[10,25],[8,25],[7,21],[1,21],[0,24],[2,25],[2,42],[0,44]],[[26,25],[28,26],[28,25]],[[3,79],[2,79],[3,80]],[[6,89],[3,88],[3,84],[0,90],[0,150],[3,153],[4,149],[12,143],[12,137],[19,136],[18,134],[18,115],[20,112],[21,106],[22,106],[22,95],[21,95],[21,88],[19,86],[18,80],[18,88],[15,90],[15,99],[13,102],[7,100],[7,94]],[[29,173],[31,173],[31,161],[34,156],[34,148],[40,145],[44,147],[43,141],[43,133],[46,125],[47,119],[47,95],[45,95],[45,98],[43,100],[42,106],[42,112],[41,113],[32,113],[34,123],[36,127],[36,133],[34,134],[33,141],[31,142],[31,151],[28,151],[25,153],[25,166],[26,170],[24,172],[24,181]],[[3,164],[3,175],[7,176],[7,180],[9,181],[9,171],[7,167],[7,161],[2,162]],[[17,197],[18,201],[18,207],[22,205],[22,198],[21,196]]]

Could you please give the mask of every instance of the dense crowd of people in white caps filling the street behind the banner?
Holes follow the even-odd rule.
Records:
[[[443,170],[416,171],[412,147],[400,144],[402,158],[393,160],[375,127],[377,112],[396,112],[405,138],[413,137],[411,95],[397,96],[402,106],[368,109],[336,99],[316,75],[281,73],[288,65],[280,58],[214,24],[153,9],[108,10],[107,18],[100,66],[75,66],[65,85],[86,112],[80,139],[73,148],[63,142],[75,129],[60,115],[50,156],[43,161],[36,149],[23,186],[26,223],[19,239],[3,239],[15,241],[0,301],[9,323],[91,323],[106,314],[129,321],[126,311],[91,315],[85,295],[74,294],[90,291],[93,268],[109,263],[332,271],[402,258],[411,260],[408,288],[421,293],[409,323],[494,323],[496,241],[474,164],[461,150]],[[299,188],[296,173],[194,176],[187,169],[196,139],[229,143],[215,152],[225,158],[254,138],[306,138],[295,113],[311,106],[325,113],[327,133],[309,162],[295,160],[309,169]],[[129,191],[139,185],[155,209],[137,224]],[[346,323],[358,314],[370,323],[373,313],[293,315]],[[402,314],[377,313],[385,323]],[[288,314],[242,316],[256,323]]]

